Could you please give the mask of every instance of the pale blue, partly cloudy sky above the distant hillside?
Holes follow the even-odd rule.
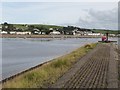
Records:
[[[2,23],[118,29],[118,2],[2,2],[0,11]]]

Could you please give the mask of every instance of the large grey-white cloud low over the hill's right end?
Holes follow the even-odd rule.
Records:
[[[84,17],[80,17],[76,25],[87,28],[118,29],[118,10],[106,11],[90,9]]]

